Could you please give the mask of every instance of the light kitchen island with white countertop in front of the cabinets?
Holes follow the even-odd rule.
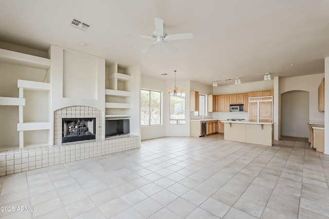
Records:
[[[222,121],[224,140],[272,146],[274,143],[274,123],[254,123],[244,121]]]

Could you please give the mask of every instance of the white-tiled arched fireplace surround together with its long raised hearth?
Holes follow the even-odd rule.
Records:
[[[62,118],[96,117],[96,140],[62,144]],[[93,107],[72,106],[54,112],[54,145],[0,152],[0,176],[83,160],[139,148],[139,136],[102,139],[102,112]]]

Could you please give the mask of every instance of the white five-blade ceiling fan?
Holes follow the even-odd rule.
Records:
[[[153,42],[152,44],[147,46],[142,52],[148,52],[156,44],[161,43],[163,46],[167,47],[170,51],[176,53],[176,52],[178,52],[178,50],[173,45],[169,44],[168,41],[174,41],[176,39],[192,39],[193,38],[192,33],[180,33],[180,34],[167,35],[167,32],[163,30],[163,20],[161,18],[157,18],[157,17],[154,18],[154,24],[155,24],[155,31],[153,31],[152,36],[136,35],[136,34],[130,34],[130,33],[127,33],[125,35],[155,40],[155,42]]]

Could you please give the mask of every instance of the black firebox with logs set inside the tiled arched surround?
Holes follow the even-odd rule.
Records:
[[[62,118],[62,143],[96,139],[96,118]]]

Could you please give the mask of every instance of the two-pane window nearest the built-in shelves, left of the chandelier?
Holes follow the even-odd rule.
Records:
[[[141,126],[161,125],[161,92],[141,90]]]

